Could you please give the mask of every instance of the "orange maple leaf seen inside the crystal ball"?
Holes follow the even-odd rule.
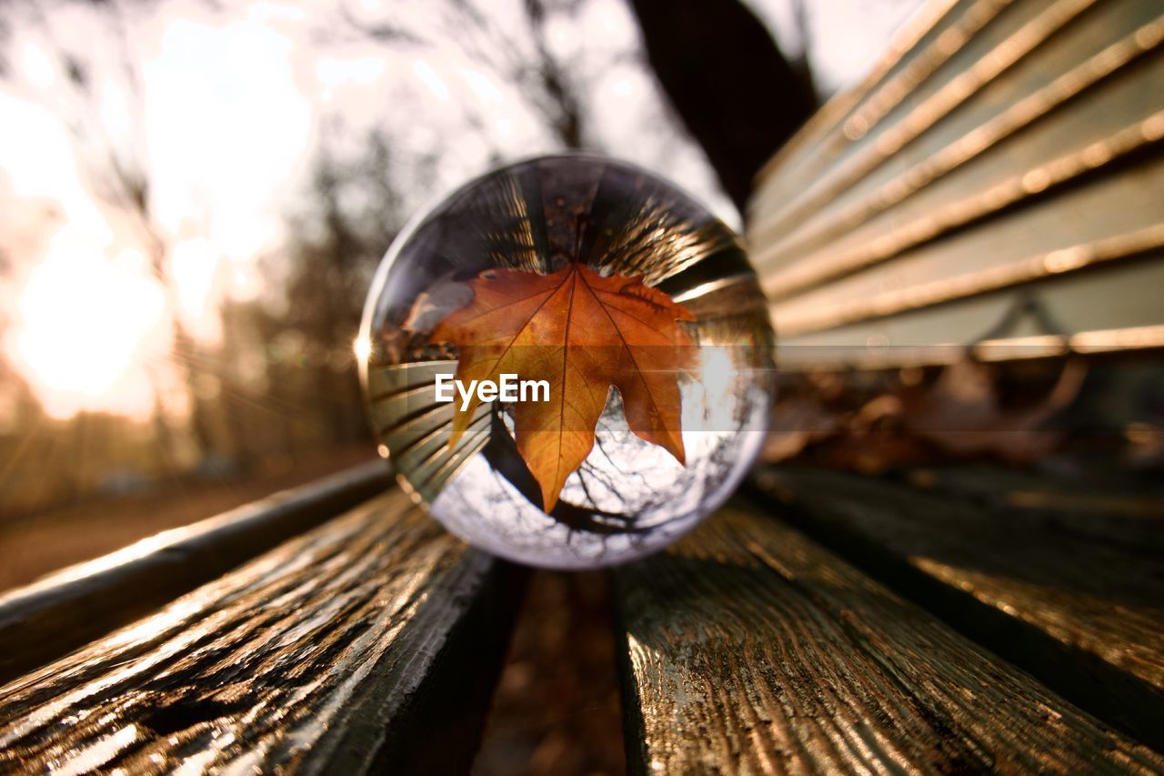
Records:
[[[679,373],[695,346],[677,320],[683,305],[641,277],[603,277],[570,263],[548,275],[490,269],[470,281],[474,296],[436,325],[432,340],[457,346],[456,380],[497,381],[502,374],[546,380],[549,401],[513,409],[517,449],[541,488],[546,513],[566,478],[594,447],[610,386],[623,395],[631,431],[684,463]],[[456,404],[449,445],[478,404]]]

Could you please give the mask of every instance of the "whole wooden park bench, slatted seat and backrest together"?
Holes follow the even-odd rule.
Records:
[[[1162,40],[1140,0],[930,6],[757,183],[782,368],[1164,345]],[[464,771],[525,576],[390,480],[0,598],[0,771]],[[1164,771],[1162,499],[759,468],[610,572],[629,768]]]

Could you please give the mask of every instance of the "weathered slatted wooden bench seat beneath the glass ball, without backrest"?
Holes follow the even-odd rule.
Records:
[[[1159,538],[1080,553],[1095,538],[1064,530],[1076,513],[1039,510],[999,553],[1016,508],[943,493],[762,471],[615,570],[632,769],[1164,770]],[[247,516],[278,535],[271,510]],[[164,583],[192,537],[229,552],[222,525],[0,601],[6,643],[41,643],[45,663],[0,690],[0,770],[467,769],[524,577],[393,489],[68,655],[38,635],[48,613],[77,616],[79,580],[113,590],[151,558]],[[809,535],[876,551],[859,570]]]

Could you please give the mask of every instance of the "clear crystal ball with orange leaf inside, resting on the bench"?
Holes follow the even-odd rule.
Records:
[[[453,534],[528,565],[662,549],[755,458],[775,389],[739,238],[591,155],[478,177],[376,271],[357,351],[396,475]]]

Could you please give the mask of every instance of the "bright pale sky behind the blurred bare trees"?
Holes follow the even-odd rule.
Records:
[[[917,5],[795,2],[751,5],[789,55],[807,56],[825,96],[858,80]],[[537,56],[520,0],[469,0],[480,12],[471,24],[453,6],[8,6],[0,352],[50,416],[143,419],[158,402],[180,412],[172,317],[213,345],[222,299],[277,296],[256,258],[277,255],[289,217],[310,209],[321,149],[359,158],[378,129],[397,156],[435,158],[403,186],[414,212],[499,161],[559,148],[514,77]],[[644,66],[623,0],[552,13],[545,40],[579,89],[588,146],[660,172],[739,227]],[[148,223],[116,206],[119,169],[149,182]],[[13,411],[3,390],[0,431]]]

